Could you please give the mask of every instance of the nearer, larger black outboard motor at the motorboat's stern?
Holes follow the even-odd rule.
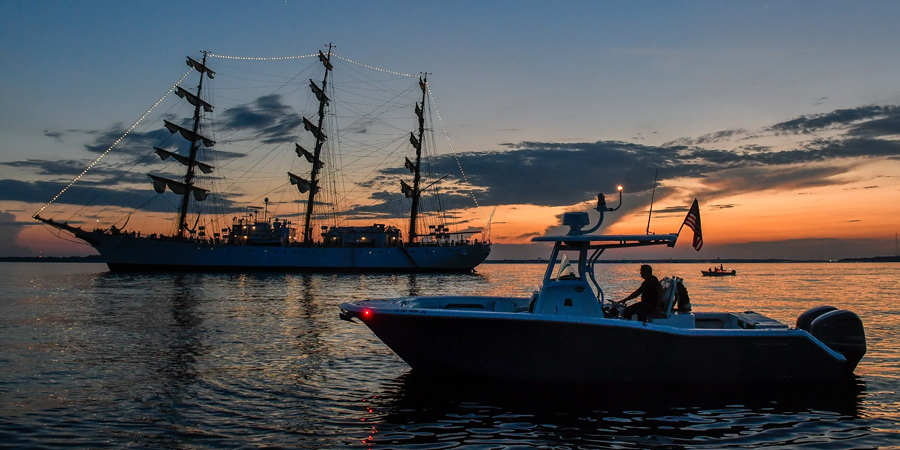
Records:
[[[809,334],[847,358],[845,374],[853,373],[866,354],[866,333],[862,320],[854,312],[828,311],[812,321]]]

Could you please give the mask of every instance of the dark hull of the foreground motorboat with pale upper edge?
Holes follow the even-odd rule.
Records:
[[[806,331],[786,327],[686,329],[401,305],[374,300],[341,309],[423,372],[536,382],[721,384],[833,382],[853,370],[847,358]]]

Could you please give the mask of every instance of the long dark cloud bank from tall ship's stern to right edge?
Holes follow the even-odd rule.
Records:
[[[643,192],[652,189],[657,166],[661,184],[679,178],[702,179],[710,187],[708,194],[800,189],[833,184],[828,177],[847,172],[861,158],[900,154],[900,142],[856,138],[816,141],[788,151],[654,147],[615,141],[523,142],[508,147],[512,150],[458,155],[469,183],[483,189],[477,194],[482,204],[571,205],[592,198],[598,190],[611,191],[616,184],[623,184],[627,192]],[[451,158],[445,156],[441,162],[450,164]]]

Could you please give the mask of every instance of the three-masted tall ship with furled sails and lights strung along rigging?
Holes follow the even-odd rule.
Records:
[[[427,73],[378,69],[388,76],[378,79],[365,74],[372,67],[341,58],[351,74],[335,81],[329,45],[305,55],[313,63],[292,77],[235,69],[227,99],[250,79],[276,89],[219,113],[208,89],[215,56],[187,58],[182,81],[198,75],[196,90],[181,81],[170,90],[189,119],[171,108],[158,128],[133,133],[100,174],[76,178],[86,185],[80,193],[73,181],[33,218],[95,248],[113,272],[471,272],[490,254],[489,223],[473,227],[460,220],[472,208],[444,208],[442,184],[459,200],[463,180],[428,163],[436,139]],[[308,85],[307,74],[316,77]],[[341,94],[364,106],[341,103]],[[125,187],[101,186],[109,179]]]

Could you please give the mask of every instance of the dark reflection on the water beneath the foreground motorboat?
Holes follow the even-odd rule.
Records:
[[[370,400],[371,445],[792,446],[853,433],[865,386],[560,387],[414,372]]]

